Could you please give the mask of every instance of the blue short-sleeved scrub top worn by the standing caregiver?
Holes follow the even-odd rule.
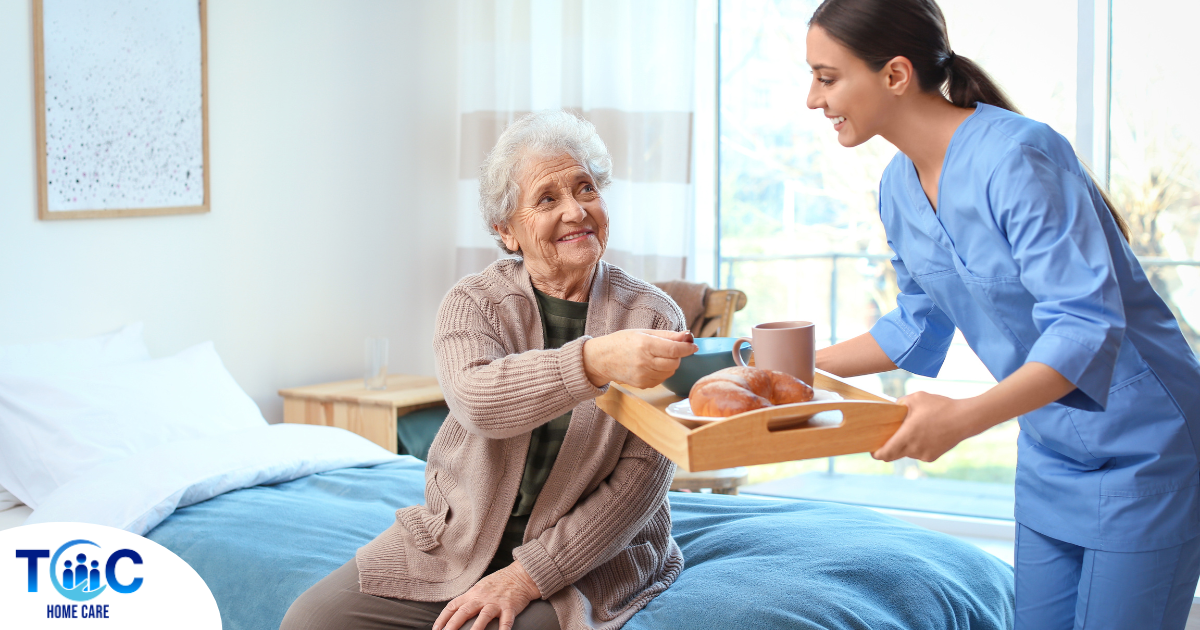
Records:
[[[934,377],[958,328],[997,380],[1038,361],[1075,384],[1020,419],[1026,527],[1109,551],[1200,534],[1200,362],[1067,139],[980,103],[937,198],[896,154],[880,184],[901,292],[871,329],[883,352]]]

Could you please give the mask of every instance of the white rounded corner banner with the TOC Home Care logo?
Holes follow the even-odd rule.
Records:
[[[218,630],[221,613],[196,570],[157,542],[38,523],[0,532],[0,625]]]

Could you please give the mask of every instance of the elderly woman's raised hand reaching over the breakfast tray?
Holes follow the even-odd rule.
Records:
[[[674,374],[679,359],[696,350],[691,332],[620,330],[583,344],[583,370],[598,388],[611,380],[653,388]]]

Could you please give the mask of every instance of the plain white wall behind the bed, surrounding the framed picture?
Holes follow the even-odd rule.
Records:
[[[38,221],[31,0],[0,1],[0,343],[214,340],[271,421],[362,340],[433,373],[452,284],[456,2],[209,0],[212,211]]]

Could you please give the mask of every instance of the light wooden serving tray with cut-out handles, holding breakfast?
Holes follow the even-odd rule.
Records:
[[[828,372],[817,370],[814,384],[846,400],[781,404],[695,422],[666,414],[664,409],[682,398],[662,385],[636,389],[613,383],[596,404],[689,473],[874,451],[900,428],[907,413],[894,400]],[[841,421],[823,412],[841,412]]]

